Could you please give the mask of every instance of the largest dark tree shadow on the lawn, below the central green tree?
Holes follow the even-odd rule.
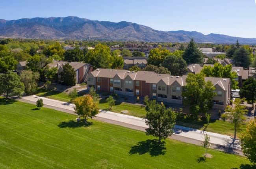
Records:
[[[164,155],[166,152],[165,142],[158,143],[157,139],[146,140],[138,142],[137,145],[131,147],[129,154],[145,154],[149,153],[151,156]]]

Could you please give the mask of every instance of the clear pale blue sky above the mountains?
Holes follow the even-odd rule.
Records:
[[[256,38],[256,0],[1,0],[0,19],[78,16],[160,31]]]

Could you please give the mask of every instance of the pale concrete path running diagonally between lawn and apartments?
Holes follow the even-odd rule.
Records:
[[[59,100],[53,100],[36,95],[24,96],[22,98],[15,99],[22,102],[36,104],[36,101],[39,98],[43,99],[44,107],[56,109],[65,113],[74,114],[74,104],[69,104],[67,102],[61,102]],[[140,131],[145,131],[145,129],[147,128],[147,125],[145,124],[145,119],[120,113],[114,113],[111,111],[100,110],[100,113],[97,114],[97,116],[93,119],[115,125],[121,125]],[[202,140],[204,139],[204,134],[206,133],[208,134],[208,136],[210,136],[210,148],[243,156],[239,140],[233,140],[232,138],[230,138],[230,136],[222,134],[211,133],[175,125],[175,128],[173,129],[173,135],[169,138],[182,142],[187,142],[190,144],[200,145]]]

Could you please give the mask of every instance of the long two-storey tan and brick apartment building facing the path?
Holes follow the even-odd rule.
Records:
[[[150,71],[131,72],[127,70],[97,69],[88,75],[87,89],[123,94],[127,96],[148,95],[161,102],[182,104],[181,93],[187,76],[171,76]],[[231,81],[225,78],[206,77],[215,86],[217,96],[213,97],[214,108],[225,109],[230,103]]]

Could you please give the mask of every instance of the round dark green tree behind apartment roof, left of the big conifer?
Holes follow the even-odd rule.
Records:
[[[186,61],[175,55],[167,56],[163,61],[163,67],[167,68],[174,76],[182,76],[187,72]]]

